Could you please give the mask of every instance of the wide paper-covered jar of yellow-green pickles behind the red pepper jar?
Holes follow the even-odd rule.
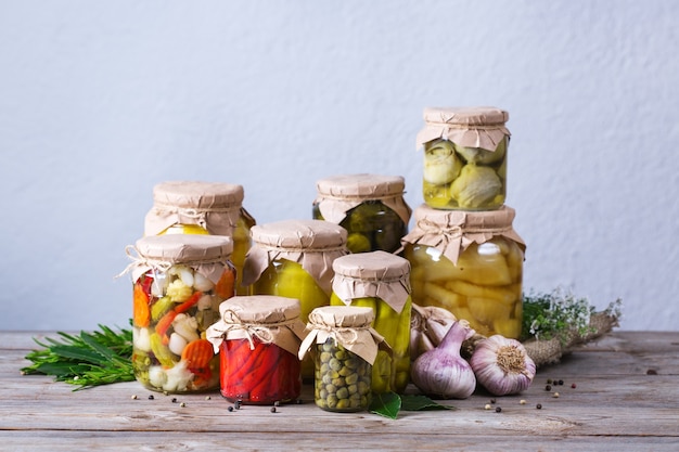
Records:
[[[330,305],[332,262],[349,253],[344,228],[321,220],[284,220],[254,225],[251,235],[243,282],[253,295],[299,300],[305,323],[313,309]],[[313,377],[310,359],[302,363],[302,376]]]

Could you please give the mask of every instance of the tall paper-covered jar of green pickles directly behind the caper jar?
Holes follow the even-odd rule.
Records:
[[[410,262],[386,251],[351,254],[333,262],[331,306],[371,308],[373,328],[390,346],[372,367],[375,393],[402,393],[410,382]]]

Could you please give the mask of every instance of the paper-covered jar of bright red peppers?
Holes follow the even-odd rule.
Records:
[[[222,302],[219,312],[207,338],[219,351],[221,395],[244,404],[296,400],[302,390],[297,353],[306,336],[299,300],[238,296]]]

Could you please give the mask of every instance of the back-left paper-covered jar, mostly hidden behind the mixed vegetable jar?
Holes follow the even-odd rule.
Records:
[[[231,262],[236,269],[238,295],[243,286],[243,263],[251,247],[255,219],[243,208],[242,185],[219,182],[171,181],[153,188],[153,207],[144,219],[144,235],[213,234],[233,240]]]

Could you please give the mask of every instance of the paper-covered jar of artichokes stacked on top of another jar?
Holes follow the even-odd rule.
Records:
[[[437,209],[489,210],[504,205],[509,113],[495,107],[425,108],[422,194]]]

